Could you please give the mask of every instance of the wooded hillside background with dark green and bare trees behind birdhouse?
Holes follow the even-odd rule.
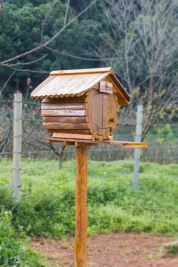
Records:
[[[31,101],[30,93],[50,71],[112,66],[131,95],[128,106],[119,106],[119,139],[125,134],[134,139],[137,105],[143,104],[142,141],[149,142],[148,133],[154,133],[149,146],[169,146],[158,149],[157,156],[177,157],[172,147],[178,117],[177,0],[6,0],[1,10],[0,152],[12,150],[15,92],[28,102],[23,104],[24,134],[33,132],[38,142],[44,135],[41,101]],[[34,142],[25,136],[23,150],[40,150],[42,143]]]

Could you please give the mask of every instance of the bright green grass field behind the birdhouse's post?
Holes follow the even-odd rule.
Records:
[[[1,162],[10,170],[12,162]],[[0,190],[0,206],[12,210],[13,225],[31,236],[74,235],[75,166],[65,162],[22,162],[21,201],[12,206],[11,190]],[[37,169],[40,168],[40,169]],[[51,168],[51,169],[49,169]],[[10,187],[12,172],[0,173]],[[88,161],[88,234],[114,231],[178,233],[178,166],[140,163],[139,187],[132,190],[133,161]],[[39,185],[35,185],[39,183]],[[43,184],[44,183],[44,184]]]

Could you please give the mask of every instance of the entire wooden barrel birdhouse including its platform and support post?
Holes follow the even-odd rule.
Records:
[[[75,267],[86,267],[88,146],[147,147],[147,143],[108,138],[117,124],[117,106],[130,101],[112,68],[52,71],[31,98],[44,98],[43,127],[52,135],[45,141],[76,146],[74,255]]]

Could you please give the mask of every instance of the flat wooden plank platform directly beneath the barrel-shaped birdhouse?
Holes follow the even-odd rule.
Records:
[[[78,146],[79,144],[77,143],[85,143],[86,145],[97,145],[97,144],[116,144],[120,145],[120,147],[125,147],[125,148],[135,148],[135,147],[147,147],[147,143],[138,143],[138,142],[128,142],[128,141],[110,141],[110,140],[82,140],[82,139],[70,139],[70,138],[54,138],[54,137],[47,137],[45,139],[45,142],[73,142],[72,144],[75,146]],[[87,144],[88,143],[88,144]]]

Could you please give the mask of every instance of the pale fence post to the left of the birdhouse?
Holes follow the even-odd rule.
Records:
[[[20,201],[21,168],[21,134],[22,134],[22,94],[14,94],[14,137],[13,137],[13,173],[12,203]]]

